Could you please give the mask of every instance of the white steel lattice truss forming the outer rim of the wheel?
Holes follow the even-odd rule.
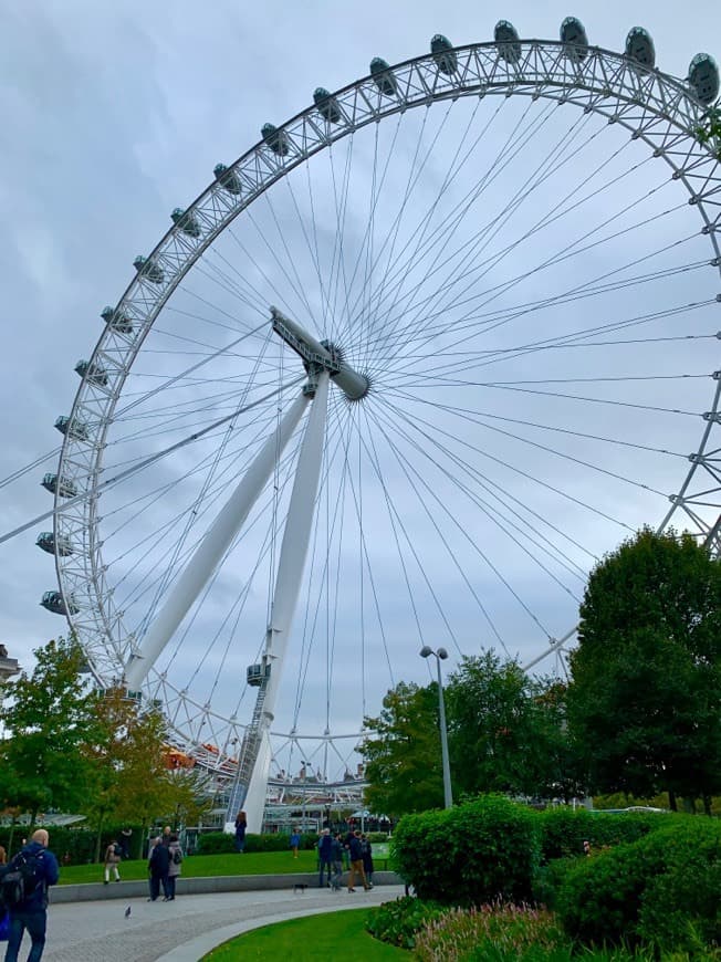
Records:
[[[706,108],[687,83],[597,48],[589,48],[586,57],[578,61],[562,43],[521,41],[515,63],[503,57],[501,48],[482,43],[456,49],[457,69],[450,74],[441,72],[430,54],[409,60],[389,69],[391,84],[379,85],[373,76],[366,76],[332,94],[320,106],[297,114],[217,175],[138,269],[115,309],[118,323],[107,323],[73,404],[71,426],[84,425],[86,437],[80,439],[67,432],[58,473],[76,485],[79,495],[67,500],[56,493],[54,502],[55,540],[67,537],[75,546],[73,555],[55,557],[60,589],[64,599],[72,597],[79,608],[69,615],[69,621],[87,653],[93,675],[104,687],[113,679],[119,680],[137,645],[137,639],[125,630],[123,611],[114,603],[100,530],[103,456],[124,381],[156,317],[192,265],[263,191],[314,154],[368,124],[411,107],[459,97],[513,95],[570,104],[624,127],[631,139],[646,143],[652,155],[669,166],[672,179],[688,191],[689,203],[698,208],[700,229],[708,234],[712,250],[709,264],[721,268],[721,165],[714,156],[719,145],[699,143],[697,132]],[[184,224],[194,224],[194,229],[184,230]],[[88,377],[101,368],[106,374],[104,379]],[[710,526],[704,520],[710,508],[714,516],[721,510],[717,441],[721,372],[713,377],[715,390],[704,414],[706,430],[689,456],[683,483],[669,495],[669,510],[659,530],[672,521],[689,526],[718,551],[719,525]],[[548,651],[562,648],[574,631],[554,641]],[[150,697],[161,699],[179,747],[191,750],[200,740],[216,739],[222,754],[232,736],[242,738],[244,725],[238,719],[222,718],[212,705],[198,703],[191,692],[165,675],[153,670],[144,687]]]

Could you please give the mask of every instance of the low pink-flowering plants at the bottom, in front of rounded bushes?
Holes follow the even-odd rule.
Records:
[[[571,960],[571,942],[550,912],[527,906],[451,909],[426,922],[416,939],[420,962]]]

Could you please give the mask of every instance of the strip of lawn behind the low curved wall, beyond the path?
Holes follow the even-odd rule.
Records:
[[[300,851],[293,858],[292,851],[236,853],[227,855],[190,855],[182,860],[181,875],[187,878],[208,878],[219,875],[288,875],[291,872],[316,871],[317,857],[314,851]],[[118,866],[121,878],[145,879],[148,877],[146,859],[123,861]],[[102,865],[61,866],[60,885],[94,882],[103,880]]]

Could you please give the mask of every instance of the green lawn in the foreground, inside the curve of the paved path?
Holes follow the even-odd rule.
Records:
[[[317,962],[318,959],[363,959],[376,962],[386,959],[410,959],[410,953],[379,942],[369,935],[364,922],[367,909],[351,909],[292,919],[253,929],[244,935],[231,939],[208,955],[202,962],[236,962],[237,959],[292,959],[293,962]]]

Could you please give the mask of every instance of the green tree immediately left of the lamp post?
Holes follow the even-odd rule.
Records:
[[[443,804],[438,686],[400,682],[383,700],[378,718],[367,718],[373,735],[360,752],[368,781],[366,804],[393,817]]]

